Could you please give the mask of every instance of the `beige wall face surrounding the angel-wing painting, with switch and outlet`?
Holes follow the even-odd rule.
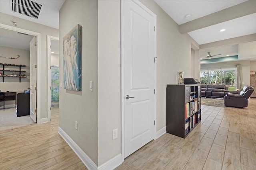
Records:
[[[98,164],[98,1],[66,0],[60,20],[60,128]],[[82,26],[82,91],[63,88],[63,37]],[[89,91],[89,81],[93,91]],[[75,129],[78,121],[78,130]]]

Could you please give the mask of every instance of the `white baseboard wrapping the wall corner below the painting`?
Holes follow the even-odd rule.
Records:
[[[112,170],[122,164],[122,155],[118,154],[114,158],[108,160],[99,167],[90,159],[90,157],[84,153],[84,151],[66,134],[60,127],[58,128],[58,133],[60,136],[68,143],[80,160],[89,170]]]

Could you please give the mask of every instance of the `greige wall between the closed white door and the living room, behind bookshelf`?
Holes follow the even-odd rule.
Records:
[[[166,125],[166,84],[178,84],[179,71],[184,71],[184,78],[192,76],[191,48],[192,44],[197,47],[199,45],[188,34],[181,34],[178,31],[178,24],[154,1],[141,0],[140,2],[157,16],[156,131],[158,131]],[[194,59],[195,62],[200,62],[198,56]],[[195,67],[195,70],[198,70],[200,75],[200,68]]]

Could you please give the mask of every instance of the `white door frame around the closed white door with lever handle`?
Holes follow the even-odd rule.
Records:
[[[150,11],[146,6],[144,6],[141,2],[138,0],[132,0],[136,4],[138,4],[141,8],[143,8],[145,11],[147,11],[149,14],[152,14],[154,17],[154,22],[156,25],[156,15]],[[156,31],[154,33],[155,38],[155,53],[154,57],[156,57]],[[155,58],[156,59],[156,58]],[[154,106],[153,106],[153,115],[154,120],[156,120],[156,60],[154,64],[154,89],[155,89],[155,95],[154,95]],[[157,124],[157,121],[156,121]],[[156,139],[156,124],[154,127],[154,139]],[[121,0],[121,154],[122,154],[122,162],[124,162],[124,0]]]

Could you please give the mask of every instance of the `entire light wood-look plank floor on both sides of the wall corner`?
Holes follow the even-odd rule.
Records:
[[[0,131],[0,170],[87,169],[52,121]],[[245,109],[202,106],[186,139],[165,133],[128,156],[116,170],[256,170],[256,98]]]

